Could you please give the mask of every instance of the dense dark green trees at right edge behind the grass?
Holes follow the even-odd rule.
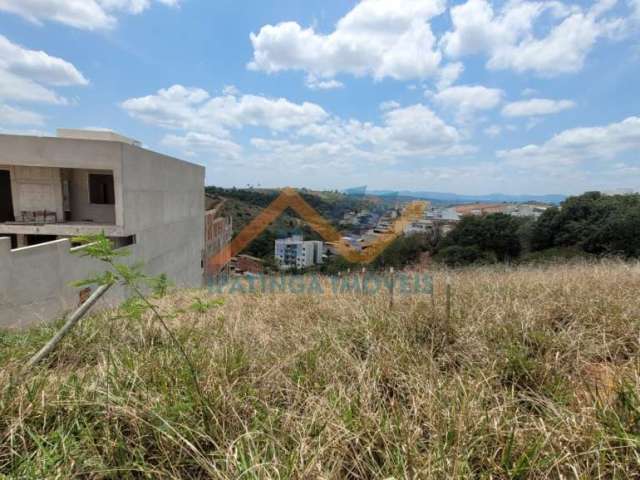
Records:
[[[503,214],[465,217],[437,247],[448,265],[575,256],[640,256],[640,194],[589,192],[536,221]]]

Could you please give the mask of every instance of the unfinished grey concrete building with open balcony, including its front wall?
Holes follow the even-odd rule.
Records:
[[[77,306],[70,282],[103,268],[74,254],[77,235],[104,232],[147,273],[202,285],[203,187],[204,167],[111,132],[0,135],[0,327]]]

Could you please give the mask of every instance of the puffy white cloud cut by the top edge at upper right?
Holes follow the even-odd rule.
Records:
[[[512,1],[495,12],[487,0],[451,9],[453,30],[441,39],[452,58],[486,53],[487,67],[552,76],[579,71],[596,41],[624,29],[620,18],[603,19],[615,0],[589,10],[557,1]],[[536,36],[542,30],[544,35]]]

